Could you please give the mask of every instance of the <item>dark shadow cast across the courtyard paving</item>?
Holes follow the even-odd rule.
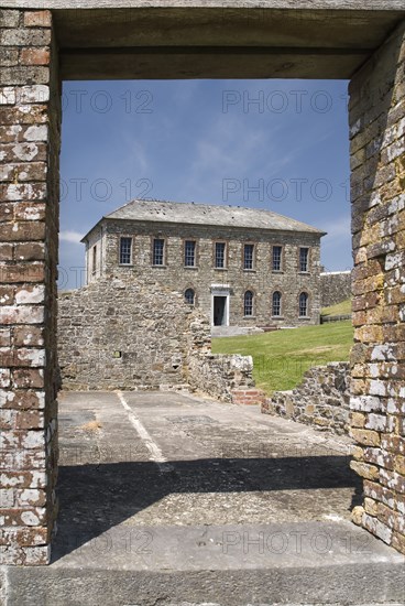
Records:
[[[303,490],[305,499],[305,490],[352,488],[354,507],[362,483],[349,461],[347,456],[207,458],[163,466],[122,462],[61,467],[63,505],[54,561],[173,494]]]

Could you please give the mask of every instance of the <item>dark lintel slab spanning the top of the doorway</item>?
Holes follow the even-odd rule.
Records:
[[[2,0],[50,8],[63,79],[350,78],[401,0]]]

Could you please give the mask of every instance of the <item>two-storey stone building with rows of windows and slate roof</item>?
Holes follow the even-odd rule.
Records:
[[[152,275],[214,326],[317,324],[324,235],[269,210],[135,199],[83,239],[87,282]]]

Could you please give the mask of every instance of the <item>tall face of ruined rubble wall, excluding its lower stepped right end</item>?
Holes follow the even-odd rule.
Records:
[[[98,280],[62,293],[58,313],[64,389],[160,389],[186,382],[193,310],[180,294],[147,281]]]

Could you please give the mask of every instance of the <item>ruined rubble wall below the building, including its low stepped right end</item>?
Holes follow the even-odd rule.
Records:
[[[97,280],[59,294],[62,386],[70,390],[187,389],[225,401],[253,386],[251,357],[211,353],[206,316],[153,282]]]

